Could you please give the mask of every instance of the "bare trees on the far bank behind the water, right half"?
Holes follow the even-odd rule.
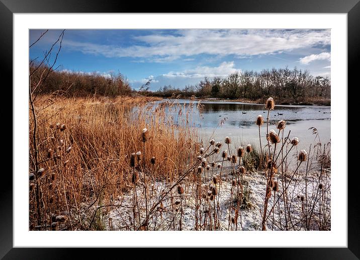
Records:
[[[281,103],[330,104],[330,88],[331,83],[327,77],[314,77],[307,70],[285,68],[235,72],[227,78],[205,78],[197,85],[185,86],[184,89],[164,86],[154,92],[154,95],[253,101],[274,97]]]

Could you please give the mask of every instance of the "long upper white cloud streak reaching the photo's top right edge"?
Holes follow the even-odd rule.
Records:
[[[163,33],[163,31],[162,31]],[[64,46],[106,57],[142,57],[168,62],[198,54],[244,57],[330,44],[330,30],[178,30],[175,35],[133,37],[127,47],[64,40]]]

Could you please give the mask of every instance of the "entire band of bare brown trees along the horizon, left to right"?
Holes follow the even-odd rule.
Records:
[[[319,103],[330,104],[330,80],[324,77],[314,77],[309,71],[298,69],[273,69],[261,72],[235,72],[227,78],[205,78],[196,85],[187,85],[184,89],[164,86],[151,91],[151,81],[133,90],[125,77],[118,73],[104,76],[99,73],[76,73],[71,71],[51,70],[41,65],[35,69],[35,63],[30,64],[32,82],[40,82],[40,94],[66,91],[71,96],[118,96],[141,94],[144,96],[188,98],[225,98],[262,101],[269,96],[277,98],[281,103]],[[32,72],[35,71],[34,74]],[[36,86],[31,86],[34,89]]]

